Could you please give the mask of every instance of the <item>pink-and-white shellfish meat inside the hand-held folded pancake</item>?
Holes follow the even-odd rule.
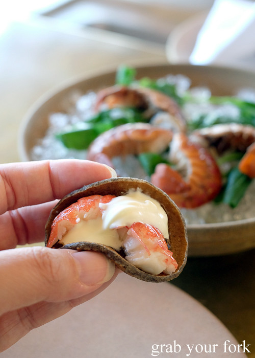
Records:
[[[50,232],[47,247],[56,247],[58,242],[64,245],[65,235],[75,229],[75,226],[79,226],[82,220],[90,221],[92,226],[104,228],[104,204],[110,203],[114,197],[114,195],[91,195],[80,198],[78,202],[64,209],[52,223],[52,231]],[[100,218],[101,223],[94,221],[98,220],[98,218]],[[96,233],[96,230],[93,230],[93,234]],[[125,259],[138,267],[138,269],[153,275],[159,275],[160,273],[172,274],[176,271],[178,265],[172,256],[173,253],[168,250],[163,234],[155,226],[143,222],[134,222],[130,226],[114,226],[105,230],[109,230],[112,233],[110,235],[111,241],[108,241],[112,243],[112,248],[116,251],[124,252]],[[88,235],[87,232],[84,233],[84,236],[86,235]],[[103,240],[105,240],[104,236],[107,237],[107,235],[106,231],[101,234]],[[87,239],[89,240],[89,238]],[[93,242],[103,243],[96,241],[96,239],[93,236]],[[86,240],[83,238],[83,241]],[[70,241],[67,242],[70,243]],[[117,248],[115,247],[116,243]],[[111,246],[109,243],[104,244]]]

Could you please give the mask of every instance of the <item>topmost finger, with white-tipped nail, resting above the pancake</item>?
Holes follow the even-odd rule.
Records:
[[[78,159],[0,165],[0,214],[60,199],[74,189],[115,174],[106,165]]]

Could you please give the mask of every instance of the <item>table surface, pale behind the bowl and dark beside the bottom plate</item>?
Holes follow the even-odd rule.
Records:
[[[164,62],[163,46],[88,29],[71,33],[46,19],[13,23],[0,36],[0,163],[19,161],[17,136],[29,107],[46,91],[74,77],[120,63]],[[255,250],[189,258],[172,281],[209,308],[255,357]],[[199,318],[198,318],[199,319]]]

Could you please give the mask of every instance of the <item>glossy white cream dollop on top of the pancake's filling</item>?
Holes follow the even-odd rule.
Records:
[[[109,203],[99,204],[103,210],[103,228],[116,229],[130,227],[134,222],[147,223],[169,238],[168,217],[159,202],[141,192],[130,190],[125,195],[114,197]]]

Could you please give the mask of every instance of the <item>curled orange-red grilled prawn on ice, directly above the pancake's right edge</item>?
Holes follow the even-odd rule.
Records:
[[[170,145],[170,161],[158,164],[151,182],[164,190],[181,208],[196,208],[210,202],[220,191],[219,167],[203,146],[193,143],[183,133],[175,133]],[[182,173],[182,175],[180,174]]]

